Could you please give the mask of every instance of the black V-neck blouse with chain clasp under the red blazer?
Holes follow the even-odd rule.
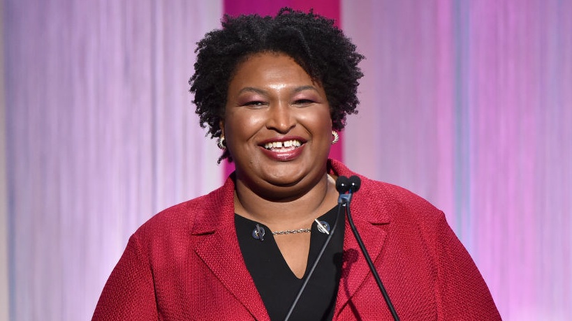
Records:
[[[339,278],[342,274],[343,214],[342,211],[340,214],[342,219],[337,224],[332,240],[318,262],[302,297],[298,300],[290,320],[332,320]],[[320,216],[318,221],[325,221],[333,227],[336,215],[337,206]],[[319,232],[316,223],[312,224],[308,262],[305,274],[300,279],[288,267],[267,226],[258,223],[265,230],[263,241],[253,237],[256,224],[255,221],[235,214],[240,251],[270,319],[284,320],[328,235]]]

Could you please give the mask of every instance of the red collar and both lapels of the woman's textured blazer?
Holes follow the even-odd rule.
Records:
[[[337,177],[355,175],[337,160],[328,160],[328,173]],[[362,179],[362,185],[352,199],[351,213],[367,251],[375,262],[386,239],[383,225],[390,223],[390,215],[383,197],[379,197],[383,194],[379,191],[379,184],[360,175],[358,177]],[[234,225],[234,188],[234,174],[231,174],[221,188],[203,196],[204,207],[196,213],[191,229],[191,234],[204,236],[196,247],[196,253],[256,320],[270,320],[238,245]],[[335,315],[370,274],[358,242],[346,221],[344,262]]]

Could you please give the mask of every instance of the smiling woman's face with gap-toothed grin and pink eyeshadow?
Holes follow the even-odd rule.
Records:
[[[307,188],[325,175],[330,105],[286,54],[254,54],[237,66],[221,129],[237,179],[253,189]]]

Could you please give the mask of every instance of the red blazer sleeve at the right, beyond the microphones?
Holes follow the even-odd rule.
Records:
[[[439,320],[501,320],[483,276],[442,213],[435,245]]]

